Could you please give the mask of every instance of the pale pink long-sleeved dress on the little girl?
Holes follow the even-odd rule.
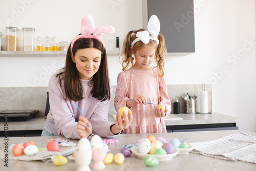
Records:
[[[156,71],[156,69],[154,69]],[[153,69],[140,71],[130,68],[118,74],[115,109],[126,106],[126,101],[142,94],[146,102],[165,104],[166,116],[170,113],[170,99],[164,78],[159,77]],[[156,105],[135,104],[130,110],[133,113],[132,123],[123,130],[123,134],[166,133],[164,119],[155,115]]]

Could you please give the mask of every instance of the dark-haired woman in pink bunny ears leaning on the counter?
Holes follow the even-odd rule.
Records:
[[[131,123],[132,113],[121,118],[117,112],[116,123],[108,121],[112,85],[104,42],[99,36],[113,33],[114,28],[104,26],[93,31],[93,18],[87,15],[82,19],[82,34],[68,49],[65,68],[50,78],[50,112],[42,136],[80,139],[93,133],[113,137]]]

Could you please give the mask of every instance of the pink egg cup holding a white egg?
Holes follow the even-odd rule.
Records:
[[[93,155],[92,155],[93,164],[91,166],[92,169],[101,170],[106,168],[106,165],[103,162],[103,160],[106,156],[107,149],[108,149],[108,146],[106,144],[103,144],[103,147],[100,147],[100,148],[92,147],[92,152],[93,152]]]

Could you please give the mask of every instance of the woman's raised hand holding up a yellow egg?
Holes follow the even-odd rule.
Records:
[[[126,111],[123,112],[123,117],[121,117],[120,111],[116,114],[116,123],[112,126],[111,132],[113,134],[118,134],[122,130],[127,129],[133,120],[132,111],[129,110],[129,117],[127,116]]]

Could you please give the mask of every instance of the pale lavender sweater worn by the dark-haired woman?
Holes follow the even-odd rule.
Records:
[[[110,100],[99,101],[92,97],[91,88],[88,86],[90,80],[81,80],[84,88],[84,99],[75,102],[69,98],[65,101],[63,97],[62,87],[59,85],[59,77],[57,71],[49,80],[49,102],[50,112],[47,116],[47,123],[55,136],[61,135],[66,138],[80,139],[76,132],[77,122],[81,115],[76,103],[78,104],[84,117],[87,117],[92,124],[93,134],[101,137],[114,137],[110,131],[110,126],[114,123],[108,121],[108,112]],[[63,79],[62,79],[63,86]],[[112,86],[111,86],[112,92]],[[112,95],[111,95],[112,96]]]

